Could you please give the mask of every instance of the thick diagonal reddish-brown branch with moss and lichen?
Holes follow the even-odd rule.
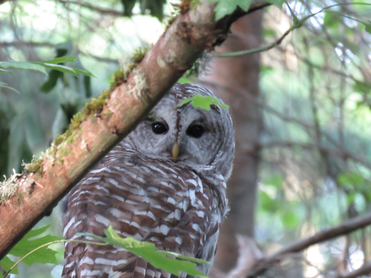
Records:
[[[246,14],[235,12],[215,21],[214,7],[206,1],[193,10],[183,7],[127,81],[102,99],[101,107],[76,116],[67,133],[16,176],[16,194],[0,204],[0,259],[135,128],[205,49],[223,42],[233,21]]]

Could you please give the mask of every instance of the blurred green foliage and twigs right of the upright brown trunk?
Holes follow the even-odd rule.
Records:
[[[261,54],[255,229],[257,241],[275,250],[370,211],[371,2],[339,2]],[[300,19],[332,4],[294,1],[290,7]],[[288,11],[267,9],[264,39],[274,40],[291,20]],[[331,277],[370,260],[370,232],[309,248],[304,277]]]

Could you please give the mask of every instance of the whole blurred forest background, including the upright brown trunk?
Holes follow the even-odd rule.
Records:
[[[0,0],[0,61],[75,56],[78,62],[66,66],[94,76],[0,71],[1,176],[22,172],[22,161],[62,134],[135,49],[155,43],[177,12],[175,3]],[[263,256],[370,214],[370,18],[368,1],[270,5],[236,21],[227,40],[200,60],[198,75],[181,78],[217,93],[236,130],[231,211],[210,277],[246,277]],[[242,50],[253,51],[220,57]],[[58,208],[38,226],[55,219],[47,233],[62,235]],[[259,275],[358,277],[344,273],[368,264],[361,272],[367,275],[367,225],[286,253]],[[20,277],[60,277],[63,244],[51,248],[59,265],[20,264]]]

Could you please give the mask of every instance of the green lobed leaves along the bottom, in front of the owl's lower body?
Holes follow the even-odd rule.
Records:
[[[39,229],[31,230],[23,237],[21,241],[19,241],[17,245],[13,247],[8,255],[20,257],[20,259],[17,262],[14,262],[8,257],[8,255],[4,257],[0,261],[0,266],[7,272],[0,272],[0,278],[4,277],[4,275],[7,277],[8,274],[18,274],[17,265],[21,261],[27,265],[32,265],[35,262],[40,264],[58,264],[55,257],[57,252],[50,249],[49,246],[58,242],[66,242],[68,240],[63,239],[63,237],[60,236],[40,236],[42,233],[46,232],[47,229],[53,225],[53,223],[50,223]],[[111,226],[109,226],[108,229],[105,229],[104,233],[106,237],[96,236],[88,233],[78,234],[81,236],[98,239],[101,242],[92,242],[86,240],[71,240],[71,242],[80,242],[92,245],[116,245],[126,249],[140,258],[145,259],[154,267],[170,272],[171,274],[181,275],[181,273],[187,273],[188,275],[192,275],[194,277],[206,277],[205,274],[196,269],[197,265],[208,264],[206,261],[183,256],[174,252],[158,250],[155,245],[150,242],[137,241],[134,238],[122,238],[113,230]],[[35,236],[37,236],[37,238],[32,239]]]

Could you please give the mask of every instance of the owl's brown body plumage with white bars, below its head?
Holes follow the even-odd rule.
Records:
[[[227,211],[224,187],[220,174],[116,148],[69,193],[63,234],[86,240],[75,234],[104,236],[112,226],[123,237],[212,262]],[[122,248],[76,242],[65,247],[63,278],[170,277]],[[209,268],[199,266],[205,273]]]

